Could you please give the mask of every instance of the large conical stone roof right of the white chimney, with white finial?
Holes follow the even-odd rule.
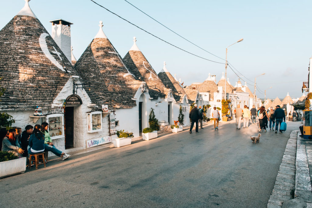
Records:
[[[92,102],[108,104],[115,108],[136,106],[131,98],[141,85],[141,81],[126,68],[121,56],[100,30],[75,64],[75,69],[94,94]],[[100,100],[98,99],[100,98]]]

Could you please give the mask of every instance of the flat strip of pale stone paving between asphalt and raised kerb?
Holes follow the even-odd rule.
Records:
[[[297,135],[298,130],[290,133],[275,185],[267,204],[268,208],[282,207],[284,201],[292,199],[290,191],[295,187]]]

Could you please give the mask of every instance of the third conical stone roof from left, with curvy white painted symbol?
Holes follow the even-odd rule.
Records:
[[[164,98],[164,84],[135,42],[136,38],[134,37],[133,46],[123,58],[124,64],[137,79],[140,78],[141,81],[147,84],[149,87],[149,95],[152,98]]]

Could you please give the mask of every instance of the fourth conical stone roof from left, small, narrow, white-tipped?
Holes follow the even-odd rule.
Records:
[[[164,86],[172,90],[173,98],[176,102],[182,102],[183,96],[186,95],[184,88],[181,87],[174,77],[169,73],[166,68],[166,62],[163,64],[163,69],[158,73],[158,77],[163,82]],[[187,99],[189,97],[187,96]]]

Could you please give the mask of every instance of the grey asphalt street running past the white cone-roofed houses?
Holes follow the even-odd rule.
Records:
[[[0,179],[1,207],[266,207],[291,130],[183,130]]]

